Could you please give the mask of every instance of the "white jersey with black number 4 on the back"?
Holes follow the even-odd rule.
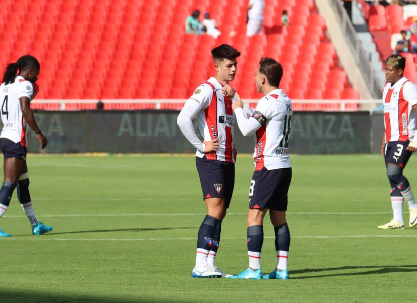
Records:
[[[26,146],[26,121],[23,118],[20,107],[20,97],[28,97],[33,94],[33,85],[21,76],[17,76],[15,82],[0,85],[0,103],[3,129],[1,138],[7,138],[15,143],[20,142]]]

